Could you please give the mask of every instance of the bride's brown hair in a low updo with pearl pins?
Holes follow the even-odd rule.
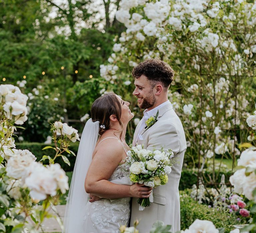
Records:
[[[92,121],[99,121],[100,125],[104,125],[105,128],[99,129],[99,134],[103,134],[110,128],[110,116],[115,115],[121,128],[123,123],[120,120],[122,114],[121,104],[114,93],[107,93],[99,97],[94,101],[91,108]]]

